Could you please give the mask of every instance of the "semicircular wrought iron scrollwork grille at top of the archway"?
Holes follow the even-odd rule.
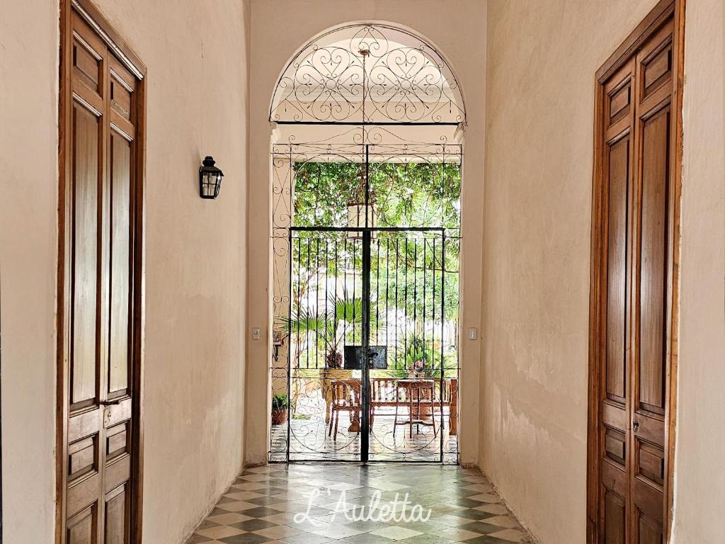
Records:
[[[465,104],[434,46],[392,25],[355,23],[320,34],[292,57],[277,81],[270,121],[459,125]]]

